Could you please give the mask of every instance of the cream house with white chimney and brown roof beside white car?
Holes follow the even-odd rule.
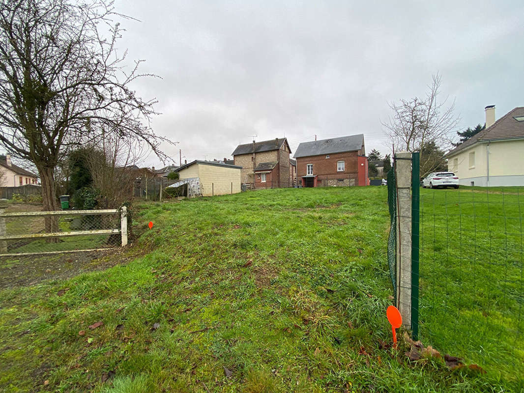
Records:
[[[495,105],[486,106],[486,128],[447,153],[447,170],[461,185],[524,185],[524,107],[495,121]]]

